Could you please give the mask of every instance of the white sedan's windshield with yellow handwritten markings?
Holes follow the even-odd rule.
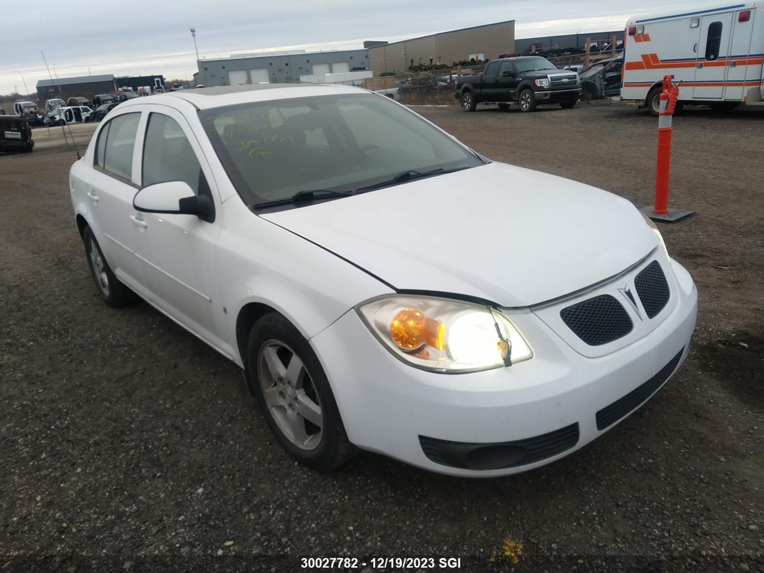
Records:
[[[199,116],[248,206],[484,164],[406,108],[366,92],[248,102]]]

